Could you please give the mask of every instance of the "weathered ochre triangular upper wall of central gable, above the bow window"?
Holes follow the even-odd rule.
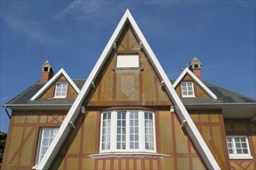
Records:
[[[92,97],[85,99],[85,106],[170,106],[168,94],[161,88],[161,80],[154,72],[147,54],[140,49],[133,30],[127,24],[116,42],[116,49],[108,56],[95,80]],[[138,56],[138,68],[117,68],[118,56]],[[135,69],[135,70],[134,70]]]

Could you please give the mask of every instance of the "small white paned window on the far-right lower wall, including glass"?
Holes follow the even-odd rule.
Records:
[[[227,148],[230,158],[252,158],[247,136],[227,136]]]

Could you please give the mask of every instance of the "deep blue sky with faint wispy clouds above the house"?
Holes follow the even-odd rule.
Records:
[[[40,80],[47,59],[86,79],[126,8],[170,79],[197,56],[202,80],[255,98],[255,1],[1,1],[1,105]]]

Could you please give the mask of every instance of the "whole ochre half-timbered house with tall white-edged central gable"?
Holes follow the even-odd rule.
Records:
[[[87,80],[54,74],[12,109],[3,169],[255,169],[256,100],[202,81],[196,57],[169,80],[127,9]]]

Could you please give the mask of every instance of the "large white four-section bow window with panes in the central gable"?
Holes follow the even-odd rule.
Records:
[[[112,110],[102,112],[100,152],[156,152],[154,112]]]

